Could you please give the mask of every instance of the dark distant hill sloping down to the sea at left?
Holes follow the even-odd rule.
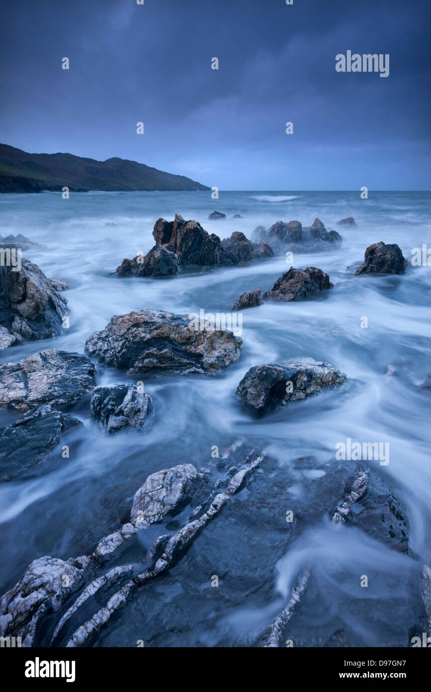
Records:
[[[27,154],[0,144],[0,192],[42,192],[62,190],[64,186],[74,192],[210,190],[183,175],[124,158],[95,161],[73,154]]]

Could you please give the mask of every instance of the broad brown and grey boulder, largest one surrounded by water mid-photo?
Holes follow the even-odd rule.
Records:
[[[161,310],[115,315],[86,340],[86,351],[130,374],[165,370],[214,374],[236,361],[242,339],[232,331],[200,330],[186,315]]]

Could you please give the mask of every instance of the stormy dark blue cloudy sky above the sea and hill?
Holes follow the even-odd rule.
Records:
[[[430,190],[430,15],[429,0],[3,3],[0,141],[221,190]],[[337,73],[347,50],[389,53],[389,77]]]

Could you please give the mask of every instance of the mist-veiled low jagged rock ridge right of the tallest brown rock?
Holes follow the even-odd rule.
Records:
[[[270,226],[268,230],[258,226],[253,231],[253,239],[264,240],[277,252],[315,252],[318,250],[338,248],[342,237],[336,230],[328,231],[320,219],[314,219],[313,226],[302,228],[300,221],[284,221]]]

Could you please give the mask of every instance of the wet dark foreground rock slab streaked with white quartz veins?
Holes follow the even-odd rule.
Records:
[[[45,646],[89,646],[96,642],[97,646],[111,646],[119,636],[128,646],[136,646],[137,640],[156,647],[175,646],[180,641],[182,646],[285,646],[288,638],[295,646],[345,646],[345,641],[358,646],[362,640],[357,625],[361,619],[367,621],[369,600],[358,598],[353,588],[356,569],[349,572],[347,562],[337,580],[322,582],[325,573],[321,563],[325,561],[316,552],[319,544],[307,543],[307,537],[310,531],[316,531],[317,536],[319,531],[342,535],[341,531],[347,545],[354,545],[361,535],[407,554],[407,515],[383,478],[365,464],[334,459],[318,462],[304,457],[287,467],[279,466],[244,444],[232,445],[209,466],[207,473],[218,479],[209,493],[206,488],[210,489],[212,482],[208,486],[208,477],[197,473],[191,464],[163,469],[149,476],[136,492],[130,522],[100,540],[91,556],[67,562],[45,556],[33,561],[0,601],[1,634],[26,637],[26,646],[35,640]],[[286,507],[293,513],[290,523],[286,523]],[[345,509],[338,525],[331,518],[340,508]],[[180,527],[167,529],[169,516],[178,510],[183,512]],[[154,522],[161,522],[159,536],[142,563],[133,536]],[[322,528],[328,525],[333,528]],[[300,538],[305,541],[302,551],[309,545],[311,558],[302,572],[295,552]],[[259,545],[259,561],[250,560],[255,543]],[[124,549],[115,555],[120,545]],[[327,549],[331,565],[331,549]],[[275,590],[277,565],[290,554],[301,574],[284,606]],[[107,556],[113,560],[108,571],[103,567]],[[99,576],[89,571],[91,565]],[[158,580],[162,574],[163,582]],[[373,576],[374,571],[369,574],[370,579]],[[212,588],[214,578],[217,588]],[[341,578],[344,597],[339,608],[322,619],[316,640],[315,628],[309,627],[315,617],[316,594],[322,589],[336,589]],[[398,632],[396,637],[387,632],[380,644],[405,646],[403,637],[422,617],[423,603],[417,588],[406,584],[403,575],[398,579],[392,576],[391,584],[392,590],[403,588],[405,632]],[[71,605],[68,601],[66,610],[71,590],[76,591],[75,602]],[[95,594],[97,600],[93,599]],[[226,627],[226,610],[240,614],[244,599],[253,618],[230,620]],[[376,617],[385,622],[388,604],[380,599],[372,602]],[[392,601],[390,607],[398,605]],[[121,608],[125,609],[124,617],[109,628],[107,623]],[[279,616],[269,628],[271,612],[279,612]],[[345,625],[340,635],[343,616]]]

